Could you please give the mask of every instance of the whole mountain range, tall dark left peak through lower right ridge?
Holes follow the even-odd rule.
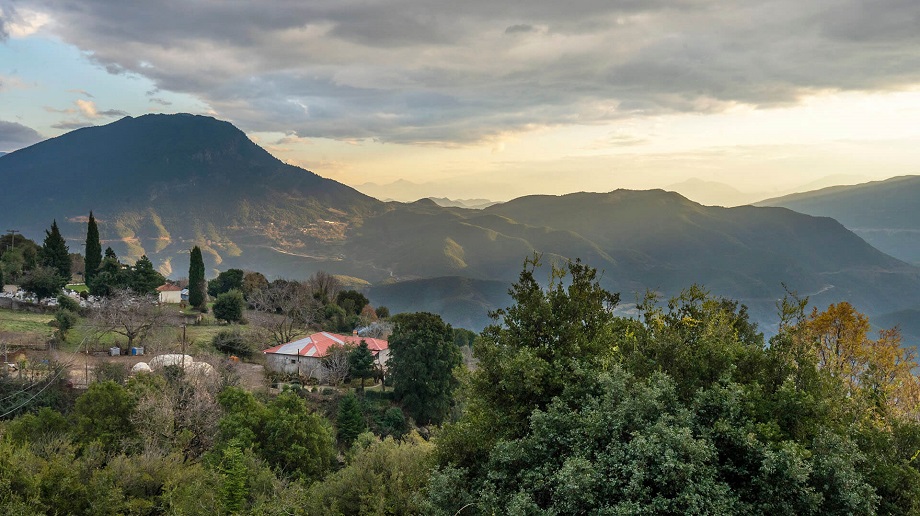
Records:
[[[508,301],[524,258],[581,258],[625,303],[693,283],[775,321],[782,284],[818,306],[870,314],[920,308],[920,270],[838,222],[784,208],[717,208],[663,190],[528,196],[484,209],[431,199],[384,203],[286,165],[226,122],[147,115],[79,129],[0,160],[0,220],[31,238],[57,219],[81,250],[93,210],[104,245],[187,274],[202,246],[211,270],[368,282],[375,304],[426,310],[479,330]],[[445,202],[443,199],[439,199]]]

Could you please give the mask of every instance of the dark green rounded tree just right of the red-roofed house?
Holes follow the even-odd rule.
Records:
[[[417,422],[439,424],[450,410],[458,384],[454,368],[462,360],[451,327],[430,313],[393,319],[387,361],[393,392]]]

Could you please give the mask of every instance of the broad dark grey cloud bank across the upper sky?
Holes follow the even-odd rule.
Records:
[[[55,30],[110,72],[302,137],[451,145],[920,83],[916,0],[62,5]]]

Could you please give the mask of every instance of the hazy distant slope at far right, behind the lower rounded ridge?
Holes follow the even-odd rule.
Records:
[[[920,176],[901,176],[852,186],[833,186],[767,199],[758,206],[783,206],[833,217],[878,249],[920,264]]]

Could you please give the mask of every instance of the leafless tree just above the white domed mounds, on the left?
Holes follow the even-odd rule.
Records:
[[[113,332],[128,339],[128,347],[143,341],[164,318],[156,298],[138,295],[131,289],[118,290],[93,311],[93,324],[101,333]]]

